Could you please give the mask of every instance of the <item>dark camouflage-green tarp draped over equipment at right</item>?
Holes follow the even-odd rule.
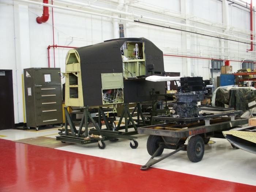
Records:
[[[256,90],[251,89],[218,89],[216,92],[215,106],[224,107],[224,104],[230,108],[242,110],[245,112],[256,106]],[[249,104],[248,106],[248,103]]]

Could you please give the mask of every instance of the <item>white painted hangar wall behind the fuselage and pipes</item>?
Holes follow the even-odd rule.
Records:
[[[85,1],[80,0],[80,2]],[[90,2],[94,1],[90,0]],[[49,0],[49,4],[51,3]],[[121,15],[121,18],[131,21],[139,19],[143,22],[219,37],[221,35],[214,31],[223,33],[226,30],[226,26],[223,25],[220,0],[141,0],[138,3],[130,3],[126,0],[125,3],[122,11],[165,20],[165,22],[157,22],[143,17]],[[253,3],[255,4],[255,0]],[[53,4],[67,7],[67,4],[57,0]],[[93,3],[93,5],[112,9],[116,9],[117,4],[118,0],[97,0]],[[249,10],[234,4],[228,6],[230,30],[225,33],[249,39]],[[68,7],[113,16],[112,11],[103,12],[76,5],[68,5]],[[47,47],[53,45],[52,8],[50,7],[49,14],[49,20],[39,25],[35,19],[37,16],[42,16],[41,6],[12,0],[0,1],[0,69],[13,70],[15,123],[22,123],[24,119],[21,86],[23,69],[48,67]],[[57,8],[53,8],[53,16],[55,45],[81,47],[114,38],[111,18]],[[247,44],[225,40],[223,45],[220,39],[214,37],[118,20],[118,23],[120,22],[125,26],[125,37],[145,37],[165,54],[255,60],[255,50],[246,52],[246,49],[250,49],[250,45]],[[178,25],[173,25],[171,22],[176,22]],[[200,27],[203,30],[188,26],[181,27],[181,24]],[[60,67],[63,72],[68,50],[68,48],[55,48],[55,67]],[[166,72],[180,72],[181,76],[190,75],[191,72],[195,76],[202,76],[203,79],[211,78],[210,60],[164,56],[164,63]],[[231,62],[230,65],[233,66],[233,71],[236,71],[241,63]],[[50,49],[50,66],[54,66],[53,48]]]

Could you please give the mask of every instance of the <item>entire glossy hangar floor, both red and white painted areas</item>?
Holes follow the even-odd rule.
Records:
[[[19,191],[41,191],[41,188],[44,189],[42,191],[76,191],[80,189],[77,188],[79,185],[72,188],[71,185],[76,184],[72,183],[71,180],[67,181],[67,178],[62,178],[63,176],[60,176],[58,170],[68,178],[73,178],[74,182],[82,180],[81,189],[90,187],[85,191],[166,191],[166,189],[167,191],[188,191],[189,189],[191,189],[189,191],[256,191],[256,155],[240,149],[233,149],[226,139],[211,138],[213,142],[205,145],[204,157],[200,162],[193,163],[189,161],[187,152],[180,151],[146,171],[140,170],[140,166],[146,164],[151,157],[146,148],[148,135],[136,135],[139,143],[136,149],[132,149],[130,141],[125,139],[119,139],[117,142],[106,141],[104,150],[99,149],[97,143],[85,146],[75,144],[50,149],[10,142],[38,136],[55,138],[58,136],[58,132],[58,128],[39,129],[39,131],[34,129],[27,131],[14,129],[0,131],[0,173],[2,172],[0,174],[0,191],[15,191],[17,189]],[[42,151],[42,154],[39,151]],[[158,158],[172,151],[165,149]],[[57,157],[54,155],[57,155]],[[52,157],[50,162],[48,162],[48,156]],[[63,156],[63,159],[61,156]],[[82,163],[78,157],[85,162]],[[3,166],[8,165],[8,162],[12,162],[12,160],[16,161],[10,163],[8,172],[15,172],[16,170],[16,174],[12,175],[14,177],[13,182],[8,184],[8,178],[3,172],[7,168]],[[39,164],[38,167],[32,165],[35,161]],[[69,167],[69,171],[67,167]],[[106,167],[112,168],[105,170]],[[17,170],[19,169],[22,171],[18,174]],[[28,179],[31,169],[35,169],[37,177],[39,177],[35,188],[28,187],[28,183],[31,183]],[[65,172],[63,173],[63,170],[60,171],[60,169],[64,169]],[[44,176],[47,181],[43,181],[44,178],[40,176],[40,172],[44,172],[43,170],[47,170],[47,174],[45,173],[46,176]],[[56,183],[52,183],[48,177],[53,177],[52,181],[56,180]],[[58,180],[59,177],[60,180]],[[101,185],[101,181],[98,180],[101,177],[106,180],[102,181],[105,183],[104,186],[94,189],[93,185],[89,183],[92,182],[97,186]],[[123,180],[119,181],[121,178]],[[20,185],[20,179],[24,180],[23,182],[27,183],[27,185]],[[138,184],[136,184],[137,181]],[[45,187],[45,182],[47,186],[68,185],[69,187],[54,187],[53,190],[49,186]],[[124,190],[119,186],[121,184],[127,185],[128,189]],[[162,187],[159,187],[160,184]],[[19,187],[16,188],[15,186]],[[184,186],[188,188],[184,188]]]

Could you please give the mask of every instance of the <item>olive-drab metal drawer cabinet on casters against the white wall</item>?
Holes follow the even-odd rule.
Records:
[[[27,127],[62,124],[60,68],[24,69]]]

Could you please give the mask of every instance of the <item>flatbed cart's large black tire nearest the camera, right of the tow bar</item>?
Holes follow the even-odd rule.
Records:
[[[188,141],[188,158],[192,162],[199,162],[204,156],[204,140],[199,135],[192,136]]]

